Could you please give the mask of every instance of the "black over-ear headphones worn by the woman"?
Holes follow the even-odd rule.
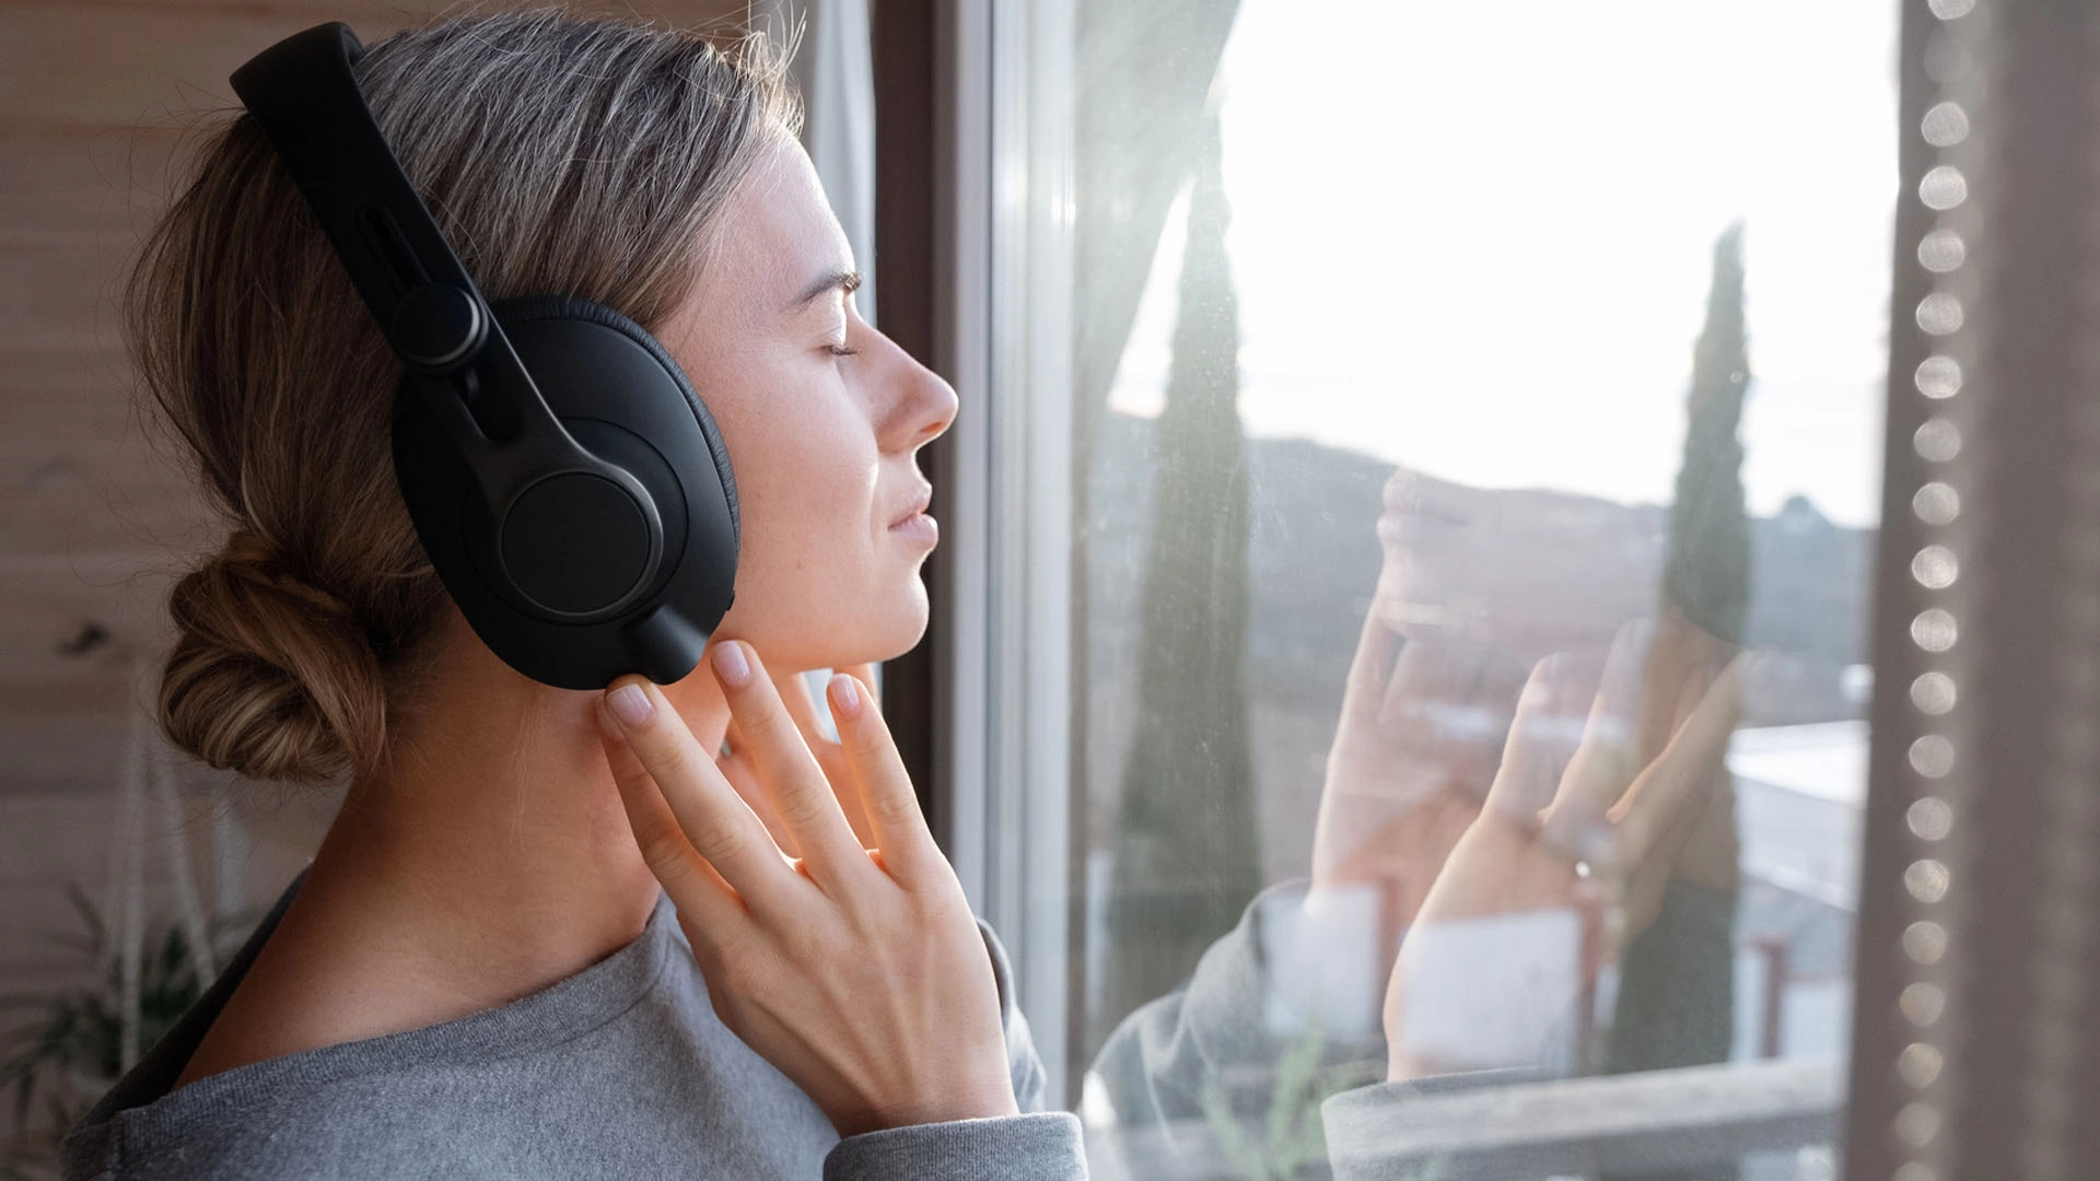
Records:
[[[407,374],[393,460],[475,635],[563,689],[699,664],[737,580],[714,416],[649,332],[571,296],[491,309],[357,88],[365,48],[311,27],[233,71]]]

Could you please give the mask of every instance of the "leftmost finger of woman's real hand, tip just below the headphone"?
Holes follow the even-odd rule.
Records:
[[[640,698],[626,698],[628,691]],[[598,702],[598,725],[620,735],[607,742],[607,765],[634,843],[680,908],[724,916],[735,902],[724,891],[760,908],[796,885],[764,824],[737,799],[662,689],[640,677],[613,681]]]

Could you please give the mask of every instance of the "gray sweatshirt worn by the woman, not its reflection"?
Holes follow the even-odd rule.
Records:
[[[304,870],[189,1013],[65,1141],[63,1177],[1084,1179],[985,929],[1025,1114],[838,1139],[714,1015],[668,893],[640,937],[500,1009],[237,1065],[170,1093]]]

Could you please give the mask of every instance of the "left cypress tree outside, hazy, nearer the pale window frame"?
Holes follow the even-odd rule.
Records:
[[[1166,408],[1153,431],[1138,719],[1109,885],[1100,1028],[1176,988],[1260,889],[1247,740],[1247,446],[1216,109],[1189,200]]]

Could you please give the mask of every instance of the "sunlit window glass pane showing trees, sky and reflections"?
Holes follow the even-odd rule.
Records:
[[[1896,6],[1319,13],[1075,11],[1096,1168],[1827,1175]]]

